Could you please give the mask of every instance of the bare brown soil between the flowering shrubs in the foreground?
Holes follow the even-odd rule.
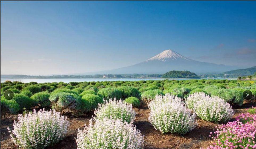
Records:
[[[240,113],[246,113],[247,108],[256,106],[256,103],[244,103],[241,107],[234,107],[234,118]],[[150,110],[146,105],[141,105],[139,108],[134,108],[137,115],[134,125],[145,136],[144,148],[175,148],[175,149],[198,149],[200,147],[207,147],[212,144],[212,139],[209,137],[211,131],[217,126],[215,123],[206,122],[198,119],[198,126],[191,132],[184,136],[176,134],[161,134],[160,131],[154,129],[154,127],[148,121]],[[10,139],[10,133],[7,130],[9,126],[13,129],[13,121],[17,119],[17,115],[7,114],[6,117],[1,120],[1,148],[2,149],[17,149]],[[68,116],[70,127],[67,134],[59,143],[47,147],[46,149],[76,149],[75,137],[78,129],[83,129],[84,124],[89,124],[89,120],[92,114],[82,115],[80,117]],[[230,120],[232,121],[232,120]]]

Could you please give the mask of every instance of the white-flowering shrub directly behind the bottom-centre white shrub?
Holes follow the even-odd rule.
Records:
[[[94,111],[97,120],[103,120],[104,118],[121,119],[127,123],[133,122],[135,118],[135,111],[131,104],[123,102],[121,99],[113,101],[105,100],[104,103],[98,104],[98,109]]]

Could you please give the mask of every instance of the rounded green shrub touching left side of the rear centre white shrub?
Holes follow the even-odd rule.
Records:
[[[81,99],[83,101],[83,106],[86,107],[86,110],[88,111],[97,108],[98,103],[103,103],[103,99],[100,96],[94,94],[85,94]]]

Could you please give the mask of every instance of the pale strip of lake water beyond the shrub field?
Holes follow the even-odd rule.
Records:
[[[201,78],[201,79],[225,79],[225,78]],[[235,79],[235,78],[234,78]],[[6,80],[9,81],[20,81],[23,83],[29,83],[29,82],[37,82],[37,83],[46,83],[46,82],[92,82],[92,81],[139,81],[139,80],[164,80],[163,78],[143,78],[143,79],[132,79],[132,78],[109,78],[109,79],[10,79],[10,78],[1,78],[1,83],[5,82]],[[190,79],[169,79],[169,80],[190,80]],[[232,80],[232,78],[229,78],[228,80]]]

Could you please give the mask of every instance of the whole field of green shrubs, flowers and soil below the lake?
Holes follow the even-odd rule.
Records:
[[[1,148],[253,149],[255,101],[254,81],[6,81]]]

